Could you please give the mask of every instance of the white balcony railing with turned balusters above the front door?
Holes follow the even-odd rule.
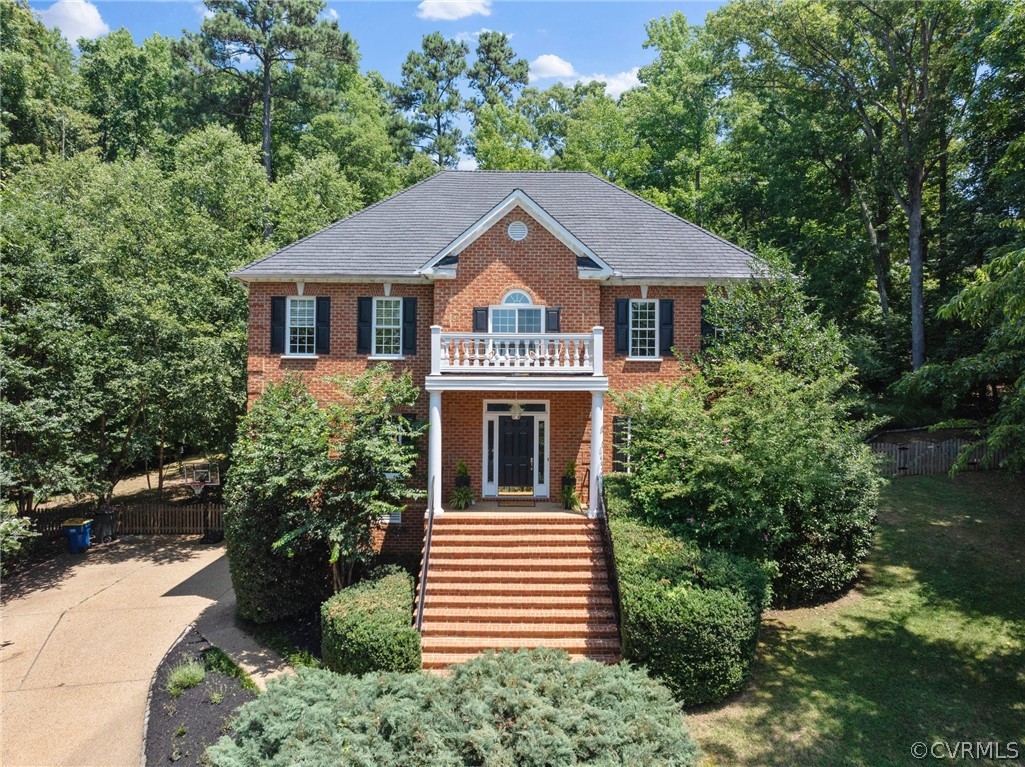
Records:
[[[430,328],[430,372],[602,375],[603,330],[589,333],[444,333]]]

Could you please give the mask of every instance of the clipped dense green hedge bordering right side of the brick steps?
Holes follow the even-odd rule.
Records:
[[[722,700],[747,679],[767,576],[747,560],[626,517],[611,517],[623,657],[686,705]]]

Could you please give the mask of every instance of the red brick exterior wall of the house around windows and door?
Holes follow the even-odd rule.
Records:
[[[527,225],[526,239],[508,238],[509,223]],[[473,330],[473,310],[501,302],[505,293],[519,288],[534,304],[561,310],[561,331],[590,332],[605,328],[605,373],[610,394],[605,397],[604,465],[612,466],[612,418],[615,405],[611,393],[623,392],[661,380],[679,378],[682,369],[675,358],[661,361],[627,361],[615,354],[615,300],[640,298],[640,286],[609,285],[577,276],[576,256],[556,237],[520,208],[510,211],[459,254],[455,279],[434,283],[391,286],[391,295],[416,296],[416,354],[393,361],[398,370],[408,370],[422,382],[430,370],[430,325],[446,331]],[[678,352],[689,358],[700,344],[703,287],[651,286],[649,298],[672,298],[673,337]],[[311,392],[322,401],[333,397],[328,379],[343,373],[359,373],[376,364],[357,354],[357,299],[384,295],[383,284],[306,283],[303,294],[331,298],[331,350],[316,360],[283,359],[271,353],[271,297],[296,294],[294,283],[249,285],[249,402],[258,398],[268,384],[281,380],[290,371],[300,372]],[[587,501],[586,471],[590,462],[590,399],[588,392],[445,392],[442,394],[443,495],[447,499],[454,485],[455,465],[465,460],[473,478],[475,495],[481,491],[482,442],[485,400],[547,400],[549,405],[549,478],[552,498],[558,498],[567,460],[577,461],[578,494]],[[428,415],[426,393],[417,403],[417,416]],[[426,475],[426,440],[418,474]],[[425,485],[425,482],[423,483]],[[423,538],[423,502],[411,506],[402,525],[385,525],[376,540],[382,554],[395,559],[419,555]]]

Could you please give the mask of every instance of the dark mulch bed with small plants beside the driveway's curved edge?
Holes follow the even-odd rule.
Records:
[[[150,718],[146,733],[148,767],[167,765],[208,765],[206,746],[231,733],[235,711],[256,697],[242,683],[209,669],[203,682],[171,697],[167,675],[183,660],[203,661],[212,645],[189,629],[164,656],[150,689]]]

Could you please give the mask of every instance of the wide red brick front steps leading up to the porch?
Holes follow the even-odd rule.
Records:
[[[445,514],[435,519],[426,582],[424,669],[522,647],[619,660],[602,537],[585,517]]]

